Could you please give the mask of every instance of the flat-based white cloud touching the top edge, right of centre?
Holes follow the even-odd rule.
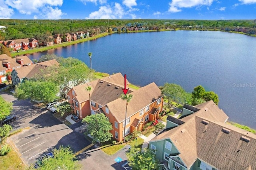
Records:
[[[191,8],[195,6],[210,6],[214,0],[172,0],[169,3],[169,12],[180,12],[180,8]]]

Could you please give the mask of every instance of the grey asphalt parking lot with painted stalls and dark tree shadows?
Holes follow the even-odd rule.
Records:
[[[10,142],[26,164],[36,162],[38,158],[60,145],[70,146],[78,152],[90,145],[80,131],[73,131],[64,123],[56,119],[51,111],[36,107],[29,100],[17,100],[10,94],[2,93],[1,96],[8,102],[13,102],[11,115],[16,120],[10,125],[13,129],[25,128],[22,133],[10,137]],[[78,125],[74,125],[76,128]]]

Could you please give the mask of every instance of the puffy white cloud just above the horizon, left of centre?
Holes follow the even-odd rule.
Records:
[[[114,7],[109,5],[100,6],[98,11],[92,12],[86,19],[116,19],[122,18],[124,9],[119,3],[115,3]]]

